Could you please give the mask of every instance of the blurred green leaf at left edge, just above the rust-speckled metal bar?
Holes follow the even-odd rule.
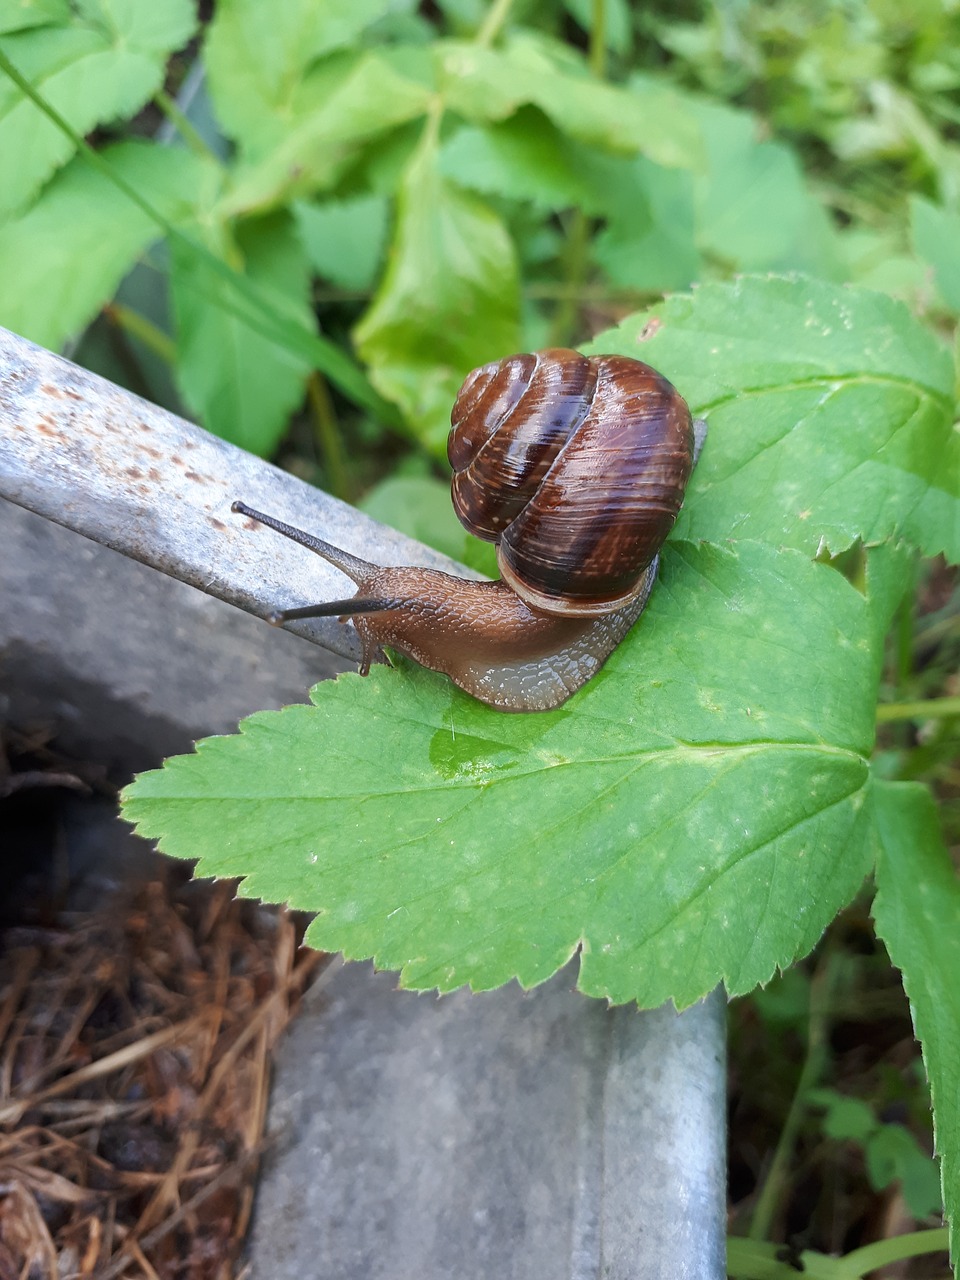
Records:
[[[174,221],[209,177],[210,166],[180,148],[122,142],[102,155]],[[90,323],[156,237],[154,221],[78,156],[27,214],[0,224],[0,324],[55,351]]]

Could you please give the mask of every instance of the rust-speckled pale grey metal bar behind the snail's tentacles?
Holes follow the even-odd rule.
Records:
[[[210,435],[0,329],[0,497],[257,617],[353,594],[317,556],[230,512],[242,499],[380,564],[428,564],[474,577]],[[352,625],[288,630],[356,658]]]

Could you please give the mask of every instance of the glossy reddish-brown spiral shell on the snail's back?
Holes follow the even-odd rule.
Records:
[[[676,388],[627,356],[552,348],[475,369],[451,420],[453,506],[513,590],[547,613],[628,603],[694,465]]]

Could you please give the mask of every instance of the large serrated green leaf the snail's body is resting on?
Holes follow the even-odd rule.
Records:
[[[744,992],[872,863],[876,622],[794,552],[678,544],[634,636],[557,712],[375,668],[145,774],[125,814],[408,987],[531,986],[580,950],[581,989],[617,1002]]]

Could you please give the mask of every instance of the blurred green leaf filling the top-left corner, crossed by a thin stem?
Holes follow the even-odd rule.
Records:
[[[196,29],[189,0],[88,0],[61,26],[0,47],[79,133],[133,115],[161,87],[168,56]],[[56,125],[0,74],[0,214],[28,201],[74,152]]]

